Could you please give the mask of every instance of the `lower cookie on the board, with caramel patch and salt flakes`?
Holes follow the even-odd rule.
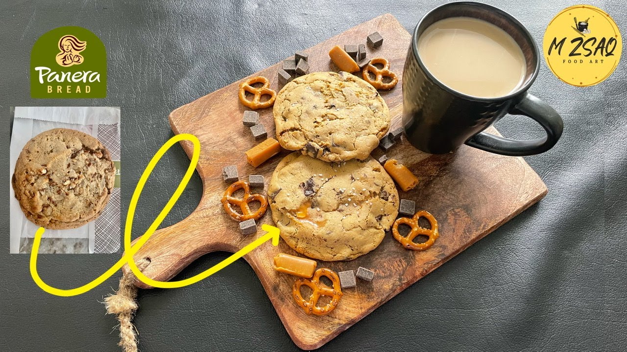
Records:
[[[398,192],[372,157],[327,163],[285,157],[268,187],[272,219],[295,251],[323,261],[355,259],[381,243],[398,214]]]

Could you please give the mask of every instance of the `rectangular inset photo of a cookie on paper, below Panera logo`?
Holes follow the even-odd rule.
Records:
[[[119,108],[15,108],[12,253],[29,252],[39,227],[41,253],[119,250],[119,116]]]

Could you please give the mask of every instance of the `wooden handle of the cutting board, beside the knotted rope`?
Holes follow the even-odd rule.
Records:
[[[237,248],[225,238],[217,236],[205,226],[206,222],[192,213],[186,219],[164,229],[159,229],[150,236],[137,253],[134,261],[147,258],[150,264],[144,269],[144,275],[157,281],[169,281],[191,262],[209,252],[236,252]],[[138,238],[139,239],[139,238]],[[133,243],[135,243],[133,241]],[[130,271],[128,264],[122,271]],[[149,289],[152,286],[135,279],[135,286]]]

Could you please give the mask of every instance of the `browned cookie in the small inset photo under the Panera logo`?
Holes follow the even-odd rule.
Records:
[[[114,182],[115,165],[102,143],[66,128],[29,140],[12,180],[24,215],[46,229],[73,229],[95,220]]]

